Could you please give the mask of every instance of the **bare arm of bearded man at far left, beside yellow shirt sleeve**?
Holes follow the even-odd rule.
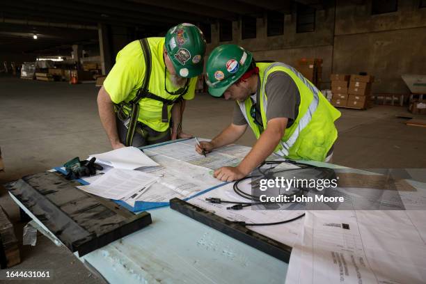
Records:
[[[120,142],[117,131],[116,114],[114,113],[114,104],[107,90],[100,88],[97,93],[97,109],[99,111],[102,126],[107,132],[109,142],[113,149],[123,148],[125,145]]]

